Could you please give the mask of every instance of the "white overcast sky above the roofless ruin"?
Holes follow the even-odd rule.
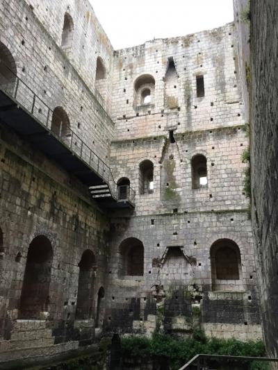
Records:
[[[232,22],[233,0],[89,0],[114,49]]]

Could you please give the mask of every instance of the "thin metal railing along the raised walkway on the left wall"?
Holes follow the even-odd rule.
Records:
[[[76,155],[79,159],[95,171],[99,177],[109,185],[111,194],[114,199],[118,199],[117,184],[113,178],[110,167],[99,158],[99,156],[90,149],[90,147],[83,142],[79,135],[76,135],[72,128],[65,123],[65,117],[59,116],[63,129],[57,130],[57,126],[52,125],[52,117],[54,110],[37,95],[31,87],[28,87],[21,78],[13,72],[7,65],[0,59],[0,90],[10,97],[17,106],[23,108],[29,115],[31,115],[38,123],[54,135],[60,142],[63,143],[68,149]],[[57,117],[57,113],[55,112]],[[60,124],[60,125],[61,125]],[[66,134],[65,134],[66,133]],[[135,191],[130,188],[129,191],[131,203],[135,200]],[[132,199],[132,200],[131,200]]]

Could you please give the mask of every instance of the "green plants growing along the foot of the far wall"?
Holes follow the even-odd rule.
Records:
[[[154,334],[152,339],[145,337],[126,337],[122,339],[122,356],[126,359],[152,360],[168,364],[169,369],[177,370],[188,360],[206,353],[213,355],[265,356],[263,342],[240,342],[235,339],[208,339],[200,329],[195,330],[192,338],[174,339],[170,335]],[[231,362],[227,362],[231,369]],[[263,362],[245,362],[233,367],[238,370],[267,370]],[[221,367],[224,369],[224,367]]]

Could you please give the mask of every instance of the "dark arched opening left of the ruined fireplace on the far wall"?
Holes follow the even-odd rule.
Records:
[[[144,275],[144,246],[139,239],[129,237],[120,245],[120,274],[122,276]]]

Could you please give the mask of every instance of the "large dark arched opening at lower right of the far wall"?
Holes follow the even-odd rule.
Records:
[[[213,290],[243,290],[240,250],[231,239],[219,239],[211,246],[211,282]]]

